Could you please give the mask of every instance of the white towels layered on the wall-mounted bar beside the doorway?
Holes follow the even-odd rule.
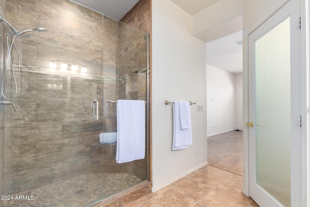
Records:
[[[175,101],[173,104],[173,138],[172,150],[184,149],[192,144],[192,128],[190,119],[190,103],[186,101]],[[188,107],[180,107],[180,105],[188,104]],[[182,110],[182,111],[181,111]],[[183,111],[185,110],[185,111]],[[189,114],[187,114],[187,112]],[[184,115],[185,114],[185,115]],[[181,128],[181,119],[188,118],[189,127],[186,129]],[[187,120],[186,120],[187,121]],[[184,123],[186,123],[186,121]]]

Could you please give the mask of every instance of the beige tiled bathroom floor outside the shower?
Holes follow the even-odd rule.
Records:
[[[245,196],[243,177],[207,165],[125,207],[258,207]]]

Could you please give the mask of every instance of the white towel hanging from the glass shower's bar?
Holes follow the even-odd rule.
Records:
[[[144,156],[145,102],[118,100],[116,162],[130,162]]]

